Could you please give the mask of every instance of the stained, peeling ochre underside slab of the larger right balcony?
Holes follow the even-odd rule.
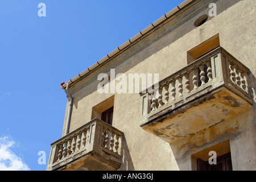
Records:
[[[225,86],[193,97],[152,115],[142,128],[172,143],[251,108],[249,102]]]

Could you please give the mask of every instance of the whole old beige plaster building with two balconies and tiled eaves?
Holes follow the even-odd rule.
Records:
[[[184,1],[61,84],[47,170],[255,169],[255,9]]]

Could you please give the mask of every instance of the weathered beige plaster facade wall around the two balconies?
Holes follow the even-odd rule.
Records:
[[[129,73],[159,73],[159,79],[162,80],[187,65],[189,49],[219,34],[220,45],[250,68],[252,73],[250,80],[254,81],[256,75],[255,9],[253,0],[218,1],[217,16],[209,17],[202,26],[195,28],[193,23],[200,15],[207,14],[209,9],[201,11],[162,39],[123,61],[118,67],[110,68],[115,68],[115,74],[125,73],[127,77]],[[188,12],[189,14],[192,12]],[[69,131],[89,122],[92,117],[92,107],[113,96],[111,93],[99,94],[97,85],[100,81],[96,80],[97,74],[93,79],[95,81],[90,82],[88,86],[73,93],[74,105]],[[251,84],[253,88],[249,89],[251,94],[254,94],[255,101],[253,91],[255,81]],[[69,101],[63,133],[67,122],[68,104]],[[253,112],[255,102],[251,110],[190,138],[179,140],[171,146],[141,129],[139,126],[140,106],[138,93],[115,94],[114,96],[113,126],[125,133],[121,170],[189,170],[192,154],[226,139],[230,140],[233,169],[256,168]]]

